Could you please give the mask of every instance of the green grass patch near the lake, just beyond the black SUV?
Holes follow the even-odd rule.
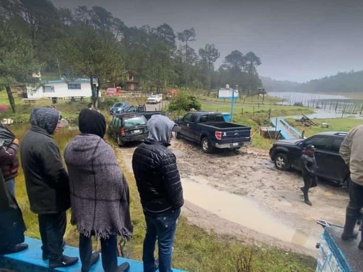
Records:
[[[329,119],[312,119],[317,126],[304,126],[301,122],[296,121],[293,118],[287,118],[287,122],[289,122],[292,126],[296,127],[300,131],[305,130],[305,136],[311,136],[316,133],[326,132],[326,131],[349,131],[352,128],[362,125],[363,119],[357,118],[329,118]],[[329,125],[328,128],[322,128],[321,124],[327,123]]]

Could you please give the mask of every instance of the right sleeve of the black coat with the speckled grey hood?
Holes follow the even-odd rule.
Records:
[[[43,143],[39,150],[39,159],[49,181],[68,184],[68,174],[64,169],[56,143],[53,141]]]

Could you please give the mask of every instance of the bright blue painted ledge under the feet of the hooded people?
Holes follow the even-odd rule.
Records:
[[[0,268],[6,268],[9,270],[14,270],[16,272],[43,272],[49,271],[48,261],[43,261],[42,259],[42,242],[39,239],[25,237],[25,243],[29,245],[27,250],[19,253],[8,254],[0,256]],[[79,258],[79,250],[76,247],[64,246],[64,254],[71,257]],[[102,258],[102,254],[101,258]],[[100,260],[96,265],[92,266],[90,272],[103,272],[102,262]],[[118,258],[118,263],[127,262],[130,264],[129,272],[143,272],[142,262]],[[77,264],[67,268],[57,268],[55,271],[67,271],[67,272],[79,272],[81,271],[81,261],[79,260]],[[158,270],[159,271],[159,270]],[[183,272],[182,270],[173,269],[173,272]]]

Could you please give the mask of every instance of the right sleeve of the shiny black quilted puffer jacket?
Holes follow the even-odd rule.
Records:
[[[182,207],[184,204],[182,183],[177,167],[177,159],[174,154],[162,157],[161,174],[166,188],[166,193],[174,209]]]

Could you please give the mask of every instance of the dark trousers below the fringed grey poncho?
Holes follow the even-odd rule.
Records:
[[[102,267],[105,272],[115,272],[117,265],[117,236],[109,239],[101,238]],[[79,256],[82,262],[82,272],[91,269],[92,238],[79,234]]]

